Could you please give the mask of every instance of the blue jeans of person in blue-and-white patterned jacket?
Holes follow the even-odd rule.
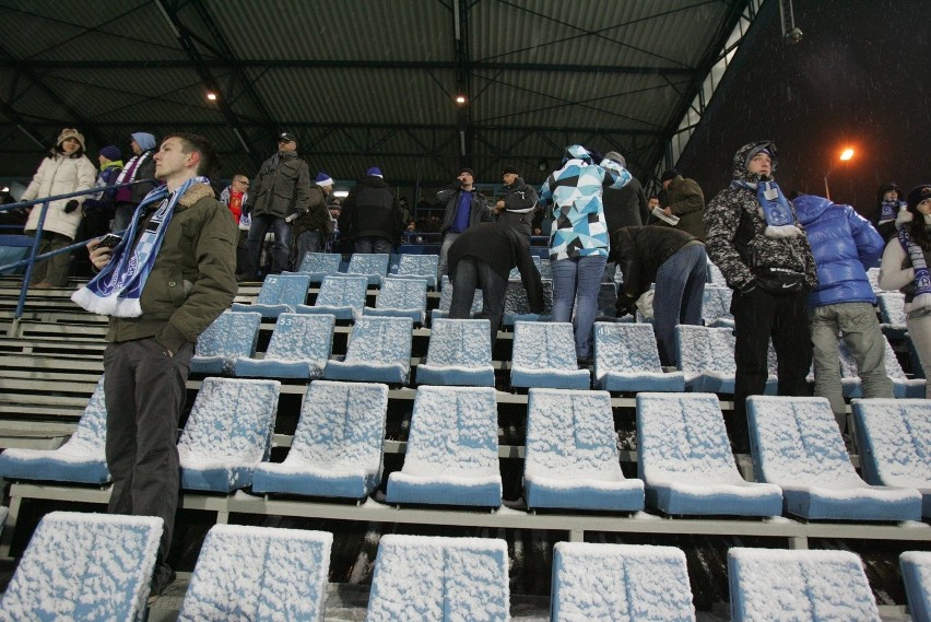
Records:
[[[553,270],[553,321],[573,321],[575,306],[576,356],[588,361],[592,355],[591,328],[598,312],[598,290],[604,274],[604,255],[557,259]]]

